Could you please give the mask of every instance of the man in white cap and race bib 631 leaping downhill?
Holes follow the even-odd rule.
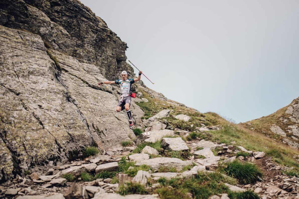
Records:
[[[131,85],[135,82],[138,82],[141,78],[142,71],[139,71],[138,78],[136,79],[127,79],[128,74],[126,71],[121,72],[121,79],[122,80],[115,80],[115,81],[106,81],[106,82],[99,82],[99,85],[102,84],[118,84],[120,87],[120,100],[118,102],[118,105],[116,107],[116,111],[120,112],[123,109],[126,109],[128,118],[129,118],[129,127],[133,126],[132,122],[132,114],[130,111],[130,105],[131,105]]]

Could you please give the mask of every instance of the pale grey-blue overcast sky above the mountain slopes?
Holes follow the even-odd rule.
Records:
[[[168,99],[239,123],[299,96],[298,0],[81,2]]]

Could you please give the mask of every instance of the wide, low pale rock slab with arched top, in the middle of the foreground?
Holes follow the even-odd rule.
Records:
[[[179,158],[152,158],[149,160],[144,160],[141,162],[137,162],[136,166],[141,166],[142,164],[146,164],[149,167],[158,170],[161,166],[167,167],[176,167],[177,170],[181,170],[184,166],[191,165],[191,162],[180,160]]]

